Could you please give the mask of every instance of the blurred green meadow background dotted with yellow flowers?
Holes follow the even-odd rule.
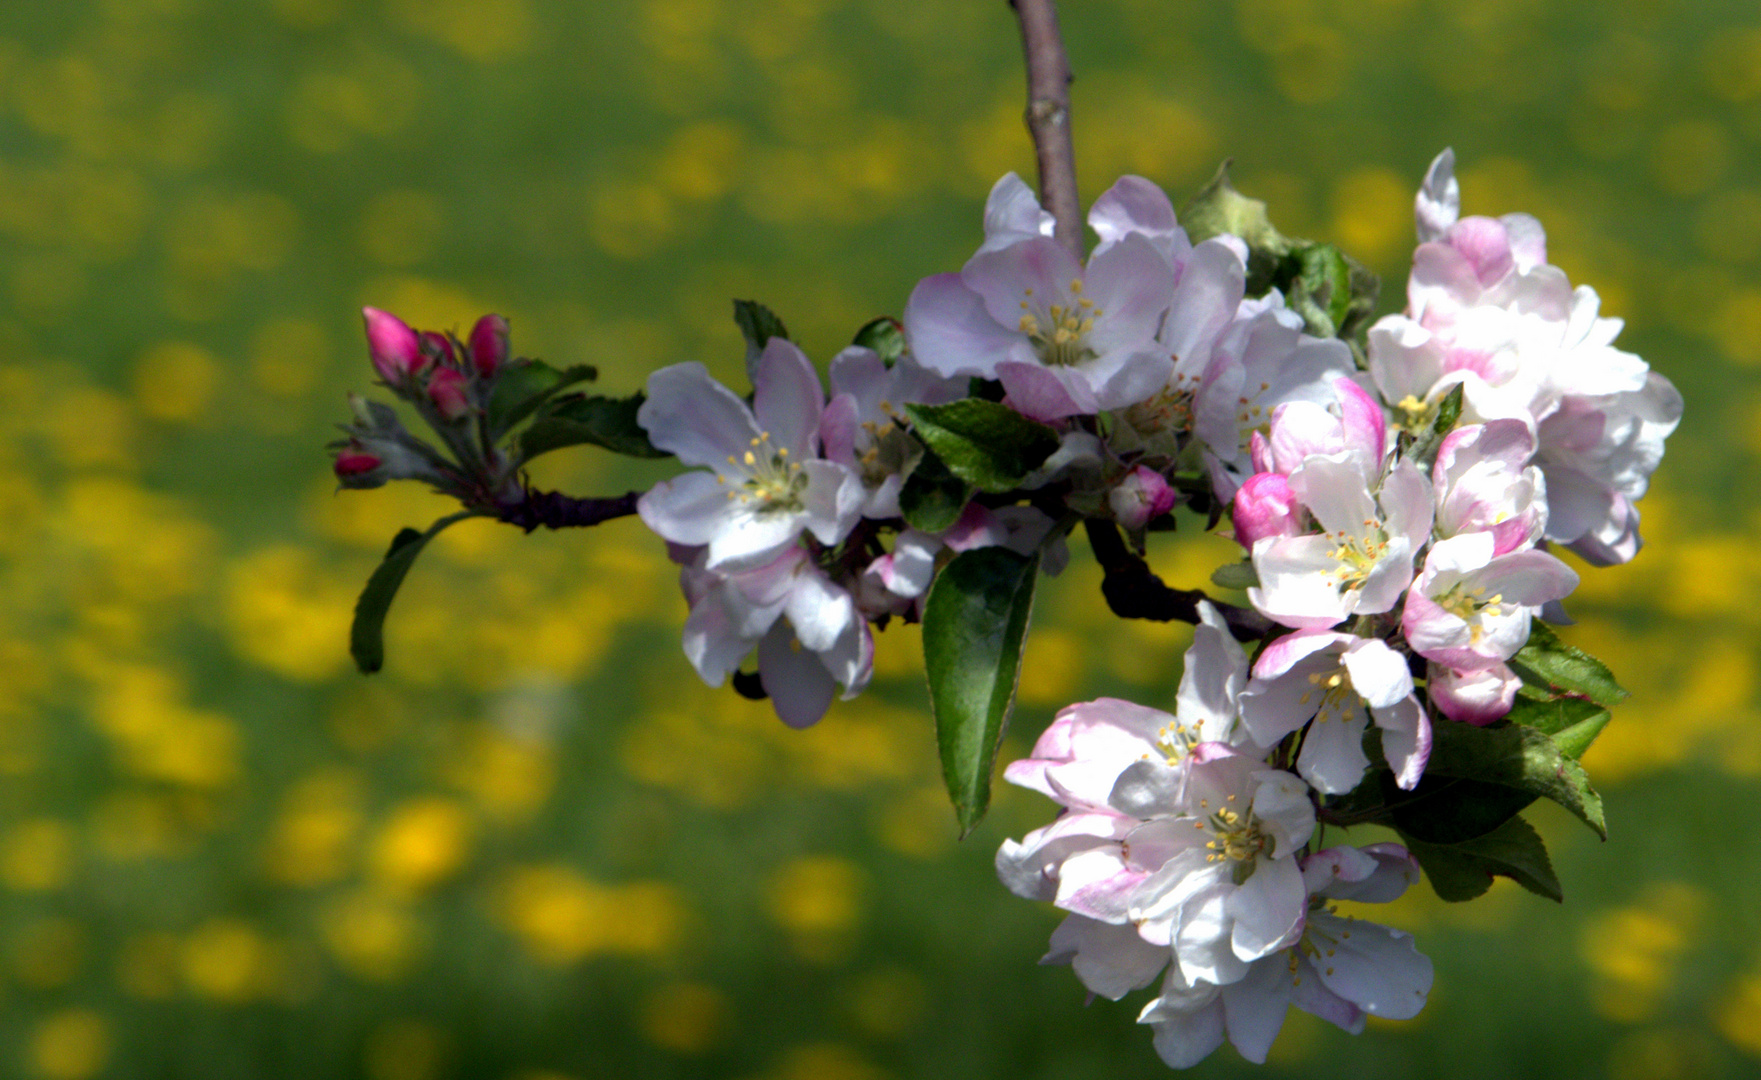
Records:
[[[1761,1071],[1761,18],[1750,4],[1072,0],[1087,197],[1224,157],[1400,303],[1411,197],[1553,261],[1687,396],[1638,562],[1569,640],[1634,698],[1588,758],[1613,837],[1536,817],[1567,904],[1389,921],[1411,1024],[1293,1013],[1197,1076]],[[1053,911],[965,842],[917,638],[815,729],[711,692],[634,522],[447,532],[382,675],[345,631],[419,490],[333,493],[357,308],[599,365],[741,374],[729,300],[824,361],[958,268],[1032,174],[1002,0],[11,0],[0,5],[0,1075],[1162,1076],[1138,1004],[1035,967]],[[592,451],[544,485],[646,485]],[[407,485],[405,485],[407,486]],[[1182,534],[1159,567],[1231,558]],[[1182,627],[1043,592],[1007,747],[1171,705]]]

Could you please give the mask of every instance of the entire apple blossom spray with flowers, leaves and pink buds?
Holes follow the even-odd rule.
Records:
[[[921,620],[970,828],[1035,576],[1081,523],[1115,613],[1196,631],[1175,714],[1072,705],[1004,773],[1062,807],[997,854],[1007,888],[1067,913],[1046,960],[1111,999],[1160,978],[1139,1020],[1176,1068],[1226,1038],[1264,1061],[1293,1004],[1347,1031],[1416,1015],[1430,962],[1337,906],[1393,900],[1421,869],[1444,899],[1493,874],[1557,897],[1518,817],[1537,796],[1606,832],[1576,758],[1624,691],[1536,620],[1569,622],[1578,574],[1553,550],[1636,555],[1682,398],[1613,345],[1620,322],[1546,261],[1539,222],[1460,215],[1449,152],[1416,197],[1407,307],[1374,326],[1374,278],[1277,234],[1226,176],[1183,213],[1192,233],[1122,178],[1083,261],[1004,176],[979,250],[923,280],[903,322],[865,326],[824,382],[773,314],[736,303],[748,396],[701,363],[586,396],[569,388],[590,368],[511,359],[497,315],[460,342],[368,308],[384,386],[449,453],[356,400],[336,476],[421,479],[465,511],[393,544],[356,659],[377,668],[391,595],[449,522],[634,513],[680,566],[690,664],[789,726],[868,685],[875,629]],[[620,499],[527,486],[530,458],[576,444],[687,472]],[[1247,608],[1150,573],[1146,537],[1178,506],[1227,522],[1243,558],[1215,580]],[[1324,846],[1363,823],[1405,846]]]

